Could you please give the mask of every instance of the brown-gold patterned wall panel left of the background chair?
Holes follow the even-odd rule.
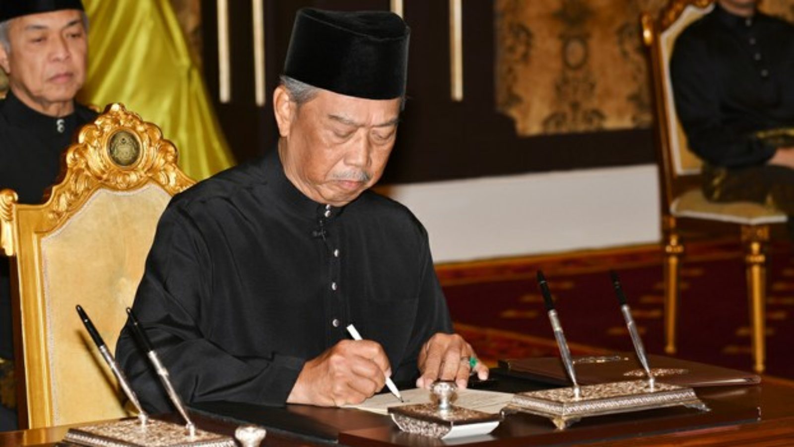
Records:
[[[496,107],[523,136],[652,124],[642,12],[667,0],[496,0]],[[761,9],[794,21],[791,0]]]

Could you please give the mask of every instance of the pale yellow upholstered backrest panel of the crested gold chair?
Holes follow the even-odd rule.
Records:
[[[133,304],[157,220],[170,199],[152,184],[132,192],[100,189],[63,227],[41,240],[55,425],[128,415],[125,397],[75,305],[86,309],[114,352],[125,307]]]

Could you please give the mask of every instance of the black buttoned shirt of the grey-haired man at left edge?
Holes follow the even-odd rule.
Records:
[[[61,153],[72,135],[96,117],[75,103],[75,112],[61,118],[42,115],[12,92],[0,99],[0,189],[13,189],[22,204],[39,204],[60,169]],[[11,286],[8,258],[0,256],[0,358],[13,358]]]

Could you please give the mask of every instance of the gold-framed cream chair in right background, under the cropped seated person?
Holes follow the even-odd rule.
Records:
[[[672,0],[657,20],[642,16],[642,37],[649,47],[653,95],[657,116],[657,156],[661,186],[661,216],[665,251],[665,352],[676,352],[676,305],[679,296],[679,262],[684,245],[678,230],[680,220],[725,223],[738,227],[746,245],[747,289],[754,370],[764,371],[765,362],[765,243],[769,225],[784,223],[786,216],[775,209],[750,202],[715,203],[700,189],[702,162],[687,146],[673,102],[669,60],[679,33],[692,21],[714,8],[714,0]]]

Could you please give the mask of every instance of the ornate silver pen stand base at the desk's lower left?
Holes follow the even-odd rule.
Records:
[[[145,425],[137,418],[123,419],[116,422],[105,422],[92,426],[81,426],[69,429],[64,442],[87,446],[131,446],[147,445],[151,447],[201,446],[201,447],[234,447],[231,437],[204,430],[195,430],[195,435],[187,434],[185,426],[172,422],[149,419]]]

